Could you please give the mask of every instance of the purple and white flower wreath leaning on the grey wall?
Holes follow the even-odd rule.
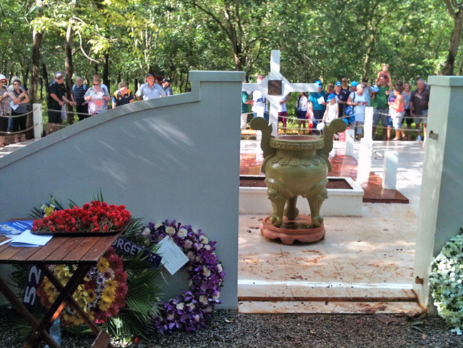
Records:
[[[194,331],[205,326],[219,301],[225,273],[215,255],[216,242],[209,242],[201,230],[182,226],[175,220],[161,224],[150,222],[142,232],[150,244],[156,245],[166,235],[172,237],[189,258],[187,272],[189,289],[169,302],[161,302],[160,314],[155,318],[159,332]]]

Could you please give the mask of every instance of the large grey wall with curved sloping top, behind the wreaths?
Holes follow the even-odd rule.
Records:
[[[144,223],[177,220],[217,240],[227,273],[220,300],[236,309],[244,73],[189,79],[191,93],[120,106],[0,158],[0,221],[27,217],[50,195],[82,205],[101,189]]]

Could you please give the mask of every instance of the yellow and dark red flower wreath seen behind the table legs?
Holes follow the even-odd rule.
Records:
[[[73,267],[69,265],[52,265],[50,270],[62,285],[66,285],[73,275]],[[125,307],[127,292],[127,273],[124,271],[122,257],[110,248],[100,258],[98,265],[90,269],[84,282],[74,292],[73,299],[90,319],[103,324],[108,318],[118,315],[120,308]],[[58,292],[44,277],[37,295],[41,297],[42,305],[49,308],[58,297]],[[83,324],[83,319],[69,306],[64,307],[61,318],[65,326]]]

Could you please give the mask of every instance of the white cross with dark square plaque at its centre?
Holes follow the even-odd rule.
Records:
[[[269,95],[269,80],[281,81],[281,95]],[[290,92],[318,92],[318,85],[316,83],[290,83],[286,80],[280,73],[280,51],[274,50],[271,51],[269,75],[261,83],[243,83],[243,91],[260,91],[264,98],[270,102],[271,135],[278,135],[278,105],[281,98]]]

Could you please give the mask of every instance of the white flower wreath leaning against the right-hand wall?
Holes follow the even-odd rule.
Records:
[[[452,326],[452,332],[463,329],[463,235],[450,238],[432,260],[431,294],[439,315]]]

